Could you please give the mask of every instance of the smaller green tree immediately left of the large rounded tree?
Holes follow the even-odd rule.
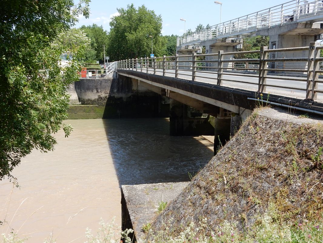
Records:
[[[91,39],[91,49],[95,52],[95,60],[99,60],[100,63],[104,63],[104,53],[103,46],[106,47],[106,56],[107,56],[107,46],[108,46],[108,33],[103,29],[102,26],[98,26],[97,24],[85,26],[83,25],[81,28],[87,37]],[[109,54],[109,53],[108,53]]]

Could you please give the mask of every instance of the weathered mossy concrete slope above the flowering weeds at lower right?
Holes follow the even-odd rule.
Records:
[[[322,220],[322,147],[322,118],[310,119],[279,108],[258,109],[168,202],[162,216],[152,216],[151,228],[160,231],[162,222],[168,222],[169,230],[177,234],[183,226],[198,225],[205,217],[210,229],[227,220],[242,232],[255,224],[269,203],[287,223],[309,217]],[[131,204],[127,207],[130,212]]]

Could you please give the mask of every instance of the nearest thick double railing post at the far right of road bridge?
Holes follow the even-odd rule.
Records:
[[[312,100],[317,98],[315,89],[318,89],[317,71],[319,70],[319,62],[316,61],[316,58],[320,56],[319,50],[316,49],[318,45],[318,42],[310,42],[308,49],[306,98],[310,98]]]

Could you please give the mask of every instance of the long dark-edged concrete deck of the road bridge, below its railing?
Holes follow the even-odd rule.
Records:
[[[155,91],[156,93],[169,95],[170,92],[175,92],[185,97],[192,98],[189,102],[202,101],[210,105],[220,107],[237,114],[243,114],[245,110],[248,110],[247,115],[250,114],[249,111],[253,110],[259,102],[254,100],[248,100],[248,98],[260,98],[260,93],[257,91],[257,77],[254,77],[254,85],[248,84],[248,86],[239,86],[239,83],[227,82],[225,86],[216,85],[216,81],[209,81],[208,79],[203,81],[203,78],[198,81],[191,81],[184,79],[187,77],[189,71],[181,70],[179,77],[175,78],[174,74],[168,74],[167,76],[152,74],[152,70],[149,73],[143,73],[133,70],[123,70],[117,69],[118,75],[124,75],[130,78],[139,80],[140,85]],[[162,70],[159,72],[162,74]],[[238,76],[239,77],[239,76]],[[245,77],[241,77],[244,79]],[[279,80],[273,80],[273,82],[280,82]],[[250,82],[251,83],[251,82]],[[323,112],[323,102],[312,101],[309,99],[301,99],[297,97],[297,93],[292,93],[287,90],[280,90],[275,94],[269,94],[268,100],[271,102],[276,102],[285,105],[297,106],[300,108],[316,110]],[[297,90],[294,90],[297,92]],[[267,93],[263,93],[263,99],[267,99]],[[320,97],[320,100],[321,99]],[[192,105],[194,107],[194,105]],[[204,105],[205,107],[205,105]],[[201,110],[203,105],[201,105]],[[205,112],[207,113],[207,112]]]

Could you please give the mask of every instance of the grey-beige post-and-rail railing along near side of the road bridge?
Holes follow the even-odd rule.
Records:
[[[197,78],[203,80],[216,80],[216,85],[222,86],[223,81],[230,81],[242,84],[252,84],[250,78],[258,79],[258,91],[266,92],[266,87],[296,89],[304,91],[306,98],[317,99],[318,93],[323,93],[318,84],[323,80],[318,79],[318,75],[323,71],[319,69],[323,57],[319,57],[320,46],[318,42],[311,42],[308,47],[295,47],[284,49],[268,49],[261,47],[259,51],[247,52],[223,52],[214,54],[175,55],[155,58],[136,58],[121,60],[116,62],[116,69],[139,71],[149,74],[172,76],[178,78],[179,75],[184,79],[196,81]],[[299,52],[307,51],[308,56],[304,58],[268,58],[268,53],[279,52]],[[245,54],[258,54],[256,59],[231,59],[233,55],[243,56]],[[294,75],[273,75],[272,73],[284,74],[293,73]],[[299,74],[299,75],[296,75]],[[224,77],[225,75],[225,77]],[[271,80],[288,81],[287,84],[267,83],[267,78]],[[291,82],[290,82],[291,81]],[[243,88],[243,86],[242,86]]]

